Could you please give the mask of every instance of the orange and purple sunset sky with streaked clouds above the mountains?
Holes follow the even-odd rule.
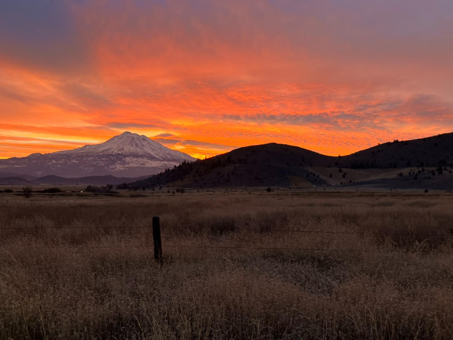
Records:
[[[0,158],[453,132],[451,0],[0,0]]]

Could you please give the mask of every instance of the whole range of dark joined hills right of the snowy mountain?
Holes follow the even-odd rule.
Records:
[[[441,166],[441,173],[438,171]],[[131,188],[318,186],[452,189],[453,133],[393,141],[345,156],[327,156],[297,146],[246,146],[206,160],[184,162]],[[437,176],[437,177],[436,177]],[[453,177],[452,177],[453,178]]]

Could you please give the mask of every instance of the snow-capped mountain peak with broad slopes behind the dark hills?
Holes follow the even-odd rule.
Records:
[[[0,160],[0,171],[35,176],[139,177],[157,174],[181,164],[184,160],[193,161],[195,158],[171,150],[146,136],[126,131],[97,145]]]

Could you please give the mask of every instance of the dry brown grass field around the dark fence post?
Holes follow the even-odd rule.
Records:
[[[453,338],[451,194],[0,194],[0,237],[1,339]]]

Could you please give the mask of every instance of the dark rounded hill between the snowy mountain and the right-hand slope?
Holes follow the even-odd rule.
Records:
[[[320,155],[297,146],[264,144],[246,146],[207,160],[183,163],[131,186],[182,187],[299,186],[327,185],[306,168],[334,164],[335,157]]]

